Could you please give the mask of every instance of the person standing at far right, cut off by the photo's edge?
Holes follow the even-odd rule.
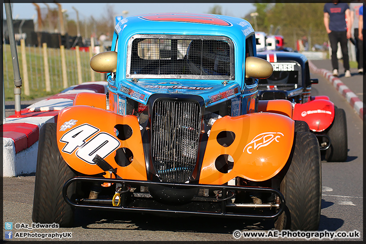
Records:
[[[350,3],[351,21],[354,36],[354,45],[356,49],[356,61],[357,61],[357,72],[363,73],[363,41],[358,38],[358,19],[359,19],[359,8],[362,6],[361,0],[356,0]]]

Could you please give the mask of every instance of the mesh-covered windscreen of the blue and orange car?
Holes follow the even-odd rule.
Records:
[[[230,47],[223,40],[144,39],[132,42],[130,74],[230,77]]]

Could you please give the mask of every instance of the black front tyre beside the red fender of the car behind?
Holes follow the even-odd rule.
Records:
[[[330,146],[325,151],[325,160],[345,162],[348,153],[347,120],[342,108],[334,108],[334,120],[326,134],[330,138]]]

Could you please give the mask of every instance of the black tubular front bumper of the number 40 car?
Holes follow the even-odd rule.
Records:
[[[166,187],[185,191],[185,189],[209,189],[222,191],[222,199],[226,198],[227,192],[248,192],[274,194],[279,204],[238,204],[231,203],[231,200],[221,200],[209,197],[194,197],[190,202],[183,204],[166,204],[156,201],[153,197],[139,197],[131,192],[121,193],[120,206],[113,206],[112,199],[75,199],[71,200],[67,195],[67,189],[71,183],[76,181],[100,183],[110,182],[122,186],[138,185],[143,187]],[[127,194],[130,194],[127,196]],[[88,208],[98,210],[129,211],[129,212],[160,212],[166,214],[186,214],[216,217],[239,217],[248,219],[271,219],[279,217],[285,208],[285,199],[281,192],[265,187],[243,187],[228,185],[201,185],[201,184],[174,184],[163,182],[151,182],[129,179],[106,179],[98,177],[77,176],[69,179],[63,188],[65,201],[77,208]],[[227,202],[229,201],[229,203]],[[88,202],[88,203],[85,203]],[[260,210],[256,209],[259,208]]]

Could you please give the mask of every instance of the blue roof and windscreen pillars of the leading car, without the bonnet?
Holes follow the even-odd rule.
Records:
[[[235,80],[243,83],[242,63],[245,62],[246,39],[253,38],[254,29],[244,19],[215,14],[156,13],[130,16],[115,26],[112,48],[118,42],[117,80],[126,70],[128,43],[135,35],[220,36],[229,38],[234,45]],[[117,40],[118,38],[118,40]],[[256,54],[254,46],[254,55]],[[189,79],[186,80],[189,82]],[[193,81],[193,80],[192,80]]]

